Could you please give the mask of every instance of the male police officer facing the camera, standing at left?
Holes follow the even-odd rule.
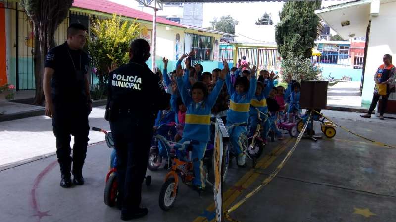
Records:
[[[87,29],[81,24],[71,24],[67,29],[67,41],[52,48],[44,69],[44,94],[46,115],[52,118],[56,137],[56,155],[60,166],[60,186],[73,183],[83,185],[82,169],[88,144],[88,115],[91,97],[88,81],[88,55],[82,51]],[[70,135],[74,136],[73,159],[70,157]]]

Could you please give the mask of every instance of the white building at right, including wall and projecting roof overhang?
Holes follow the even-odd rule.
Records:
[[[375,85],[373,76],[383,64],[383,55],[396,56],[396,31],[389,28],[396,22],[396,0],[355,0],[315,13],[344,39],[365,37],[362,104],[370,104]],[[387,111],[396,113],[396,93],[391,93]]]

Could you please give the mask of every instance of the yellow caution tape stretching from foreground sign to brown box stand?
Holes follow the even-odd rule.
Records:
[[[269,182],[272,181],[276,177],[276,175],[279,173],[279,171],[285,166],[286,162],[289,160],[289,158],[292,156],[294,150],[296,149],[298,143],[300,142],[302,136],[304,135],[304,132],[309,124],[309,120],[311,119],[312,113],[309,114],[308,119],[302,128],[300,134],[297,137],[297,140],[294,144],[294,146],[290,149],[290,151],[286,154],[285,158],[282,160],[282,162],[276,167],[276,169],[269,175],[268,178],[266,178],[261,185],[259,185],[257,188],[255,188],[253,191],[248,193],[242,200],[240,200],[238,203],[234,204],[230,209],[224,212],[224,217],[231,222],[239,222],[237,220],[234,220],[230,217],[230,213],[235,211],[237,208],[239,208],[243,203],[247,201],[250,197],[252,197],[254,194],[259,192],[264,186],[268,185]]]

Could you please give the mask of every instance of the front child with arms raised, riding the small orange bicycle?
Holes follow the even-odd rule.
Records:
[[[187,107],[183,138],[179,143],[193,141],[192,160],[195,175],[193,185],[195,185],[197,189],[205,188],[202,159],[210,136],[210,111],[223,87],[225,73],[224,71],[220,74],[220,80],[216,82],[216,86],[209,95],[206,84],[200,81],[192,85],[190,95],[182,79],[183,71],[181,66],[179,66],[176,71],[176,81],[179,92],[183,99],[183,103]]]

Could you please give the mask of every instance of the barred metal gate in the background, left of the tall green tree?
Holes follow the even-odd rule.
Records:
[[[246,60],[257,66],[257,70],[278,69],[277,59],[279,57],[277,49],[273,48],[238,48],[238,59],[246,56]]]

